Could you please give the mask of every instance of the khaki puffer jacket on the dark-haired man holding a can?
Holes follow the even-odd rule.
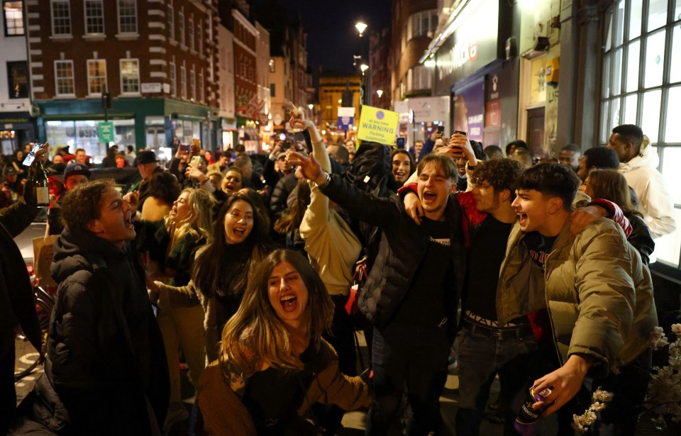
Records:
[[[567,220],[541,280],[530,273],[536,267],[521,243],[524,233],[514,226],[499,277],[497,315],[506,323],[548,307],[562,362],[570,354],[587,354],[594,359],[594,376],[604,376],[648,347],[657,324],[653,284],[612,220],[600,218],[577,237],[569,228]]]

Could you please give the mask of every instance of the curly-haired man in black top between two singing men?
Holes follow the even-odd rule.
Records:
[[[521,172],[523,166],[511,159],[479,162],[471,177],[472,191],[457,196],[464,211],[467,247],[458,350],[461,395],[455,420],[457,435],[477,435],[480,431],[489,388],[497,373],[504,385],[498,416],[509,414],[510,397],[522,388],[517,382],[520,377],[514,374],[524,372],[530,353],[536,349],[526,316],[505,325],[497,322],[499,267],[516,222],[511,203]],[[510,421],[506,417],[506,422]]]

